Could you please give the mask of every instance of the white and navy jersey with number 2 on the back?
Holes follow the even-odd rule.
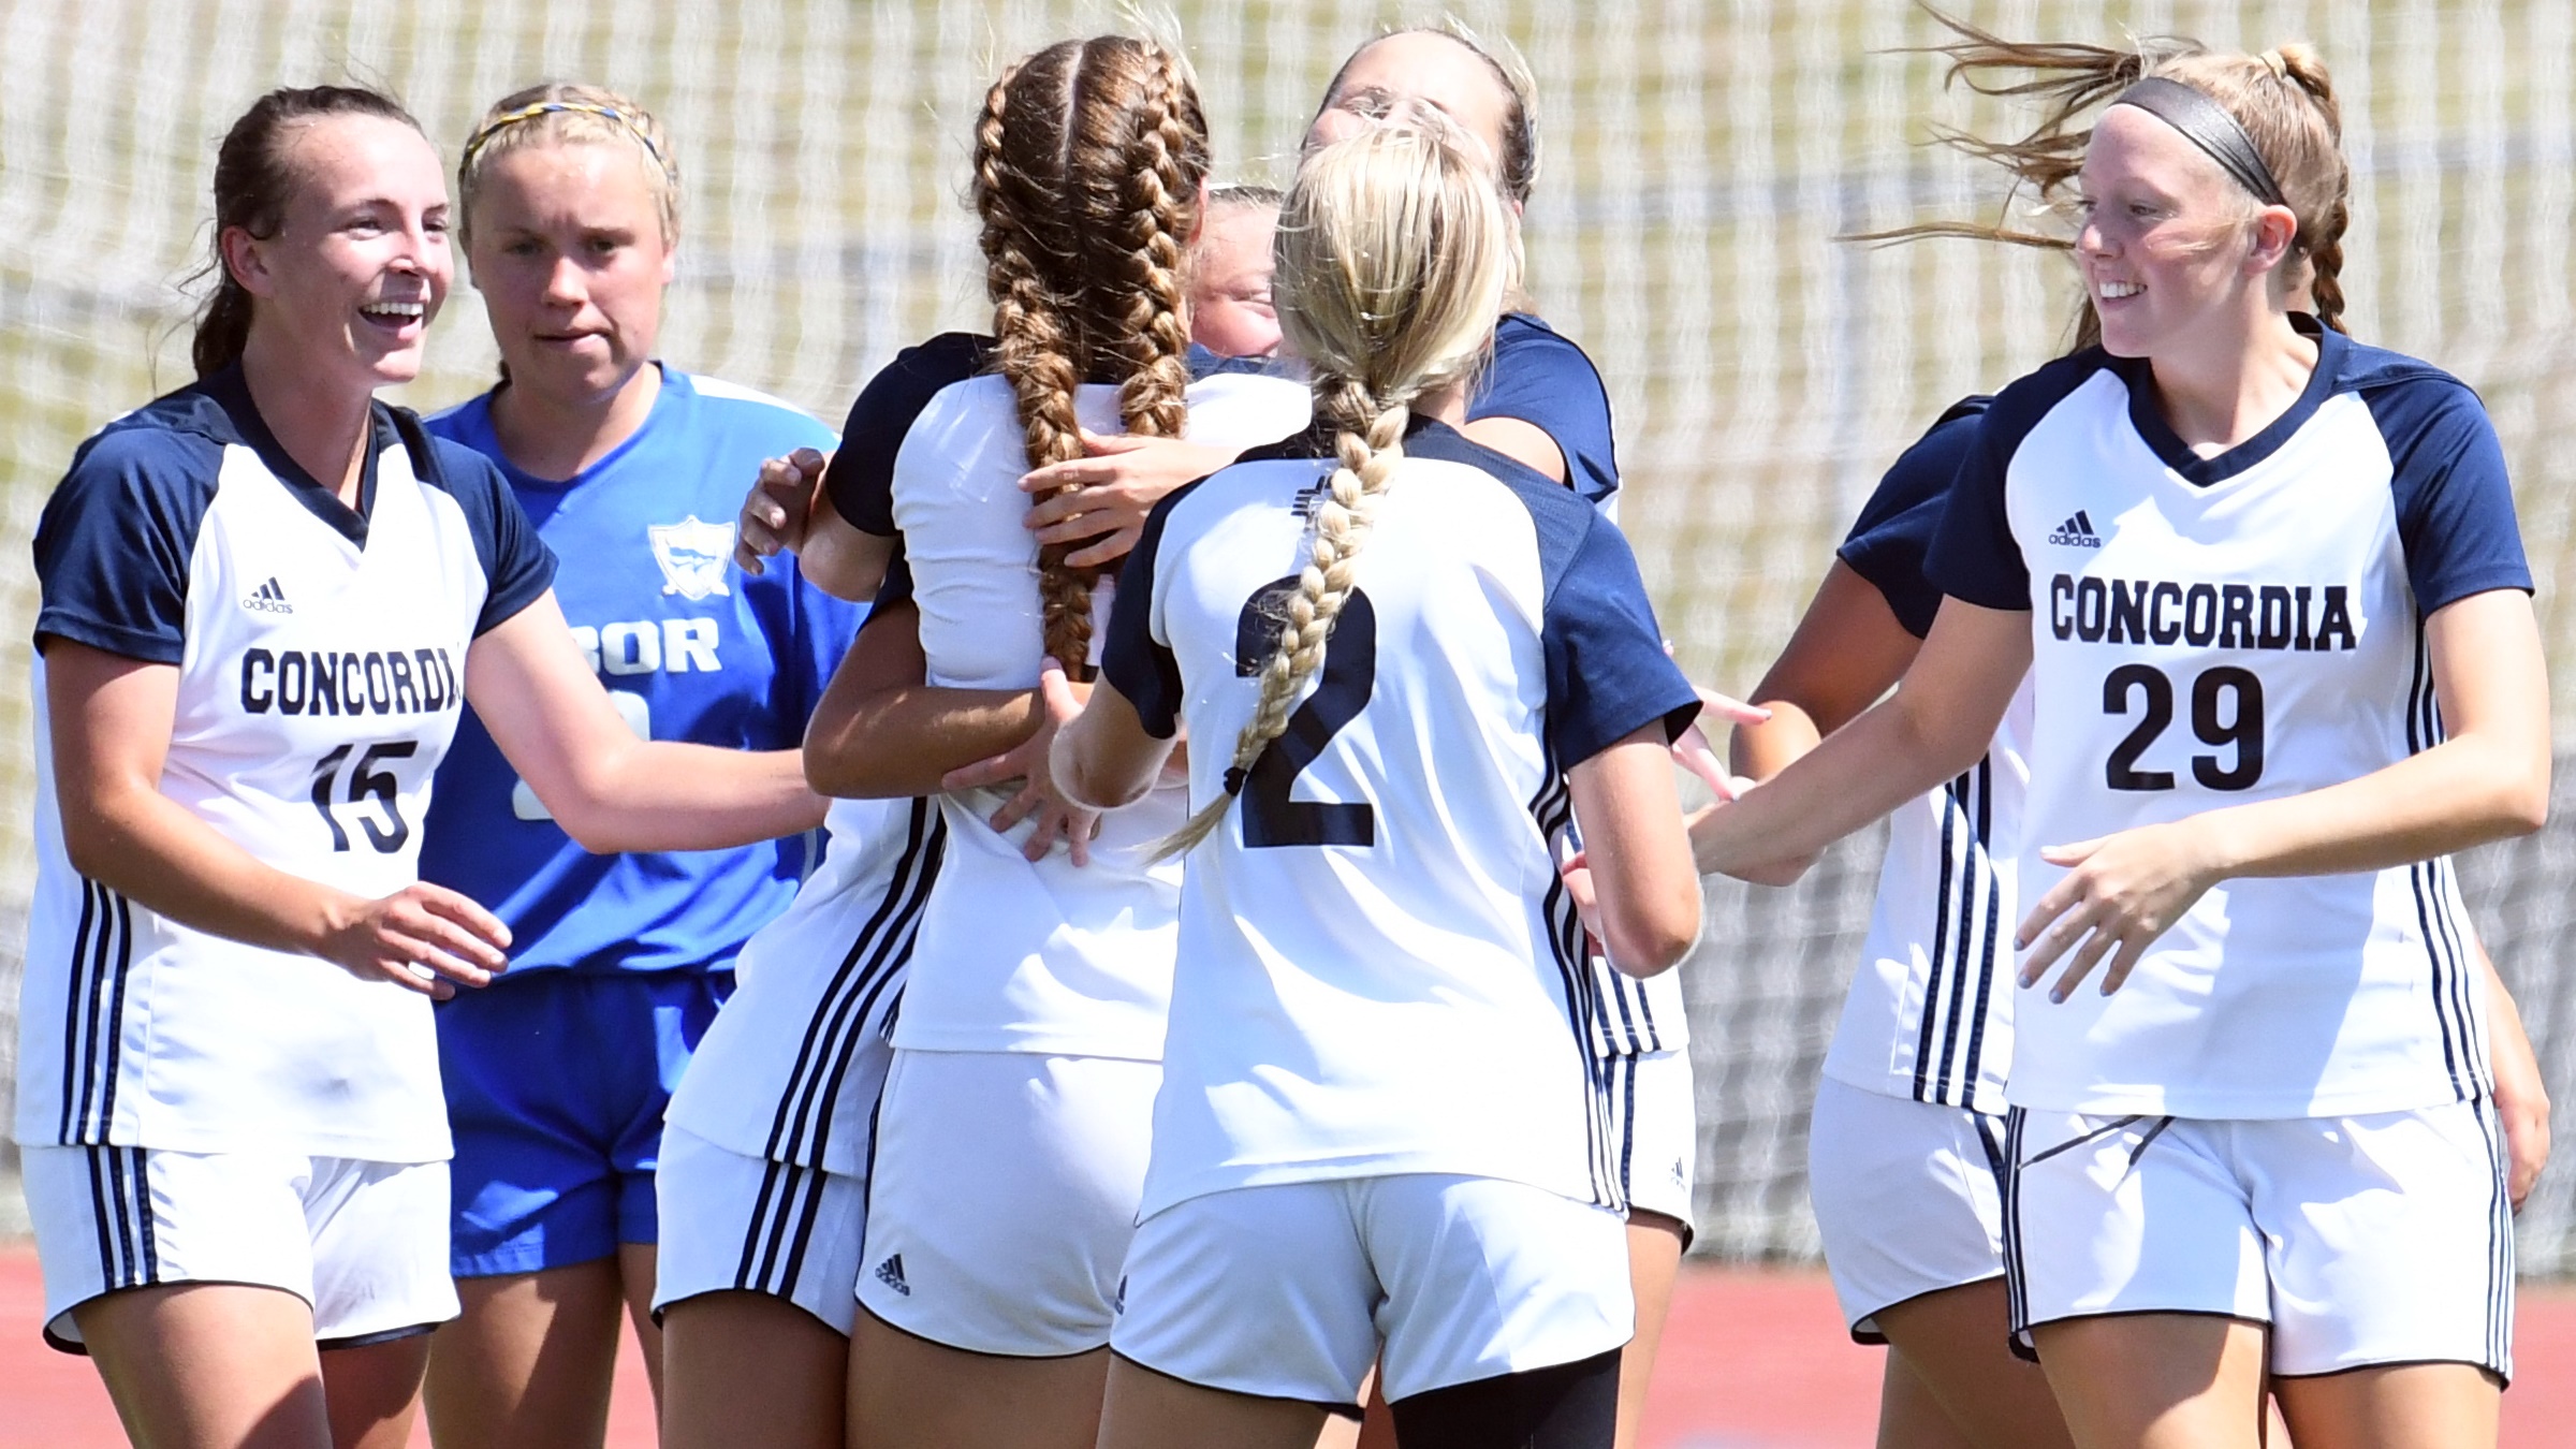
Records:
[[[1188,722],[1216,799],[1329,438],[1175,492],[1105,678]],[[1257,462],[1255,462],[1257,459]],[[1324,668],[1190,856],[1144,1214],[1278,1181],[1463,1173],[1620,1207],[1597,1000],[1556,877],[1564,768],[1698,696],[1582,498],[1437,423],[1406,438]]]

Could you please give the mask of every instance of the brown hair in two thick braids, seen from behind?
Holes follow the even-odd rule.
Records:
[[[1206,178],[1198,83],[1154,41],[1056,41],[984,93],[974,147],[984,291],[994,371],[1010,382],[1030,467],[1082,456],[1074,389],[1100,374],[1121,379],[1126,431],[1182,433],[1182,260]],[[1064,562],[1074,549],[1038,549],[1038,603],[1046,652],[1090,678],[1095,572]]]

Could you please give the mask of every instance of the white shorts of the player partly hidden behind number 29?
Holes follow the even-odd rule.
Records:
[[[1883,1307],[2004,1276],[2007,1171],[2002,1116],[1816,1085],[1806,1196],[1855,1341],[1886,1343]]]

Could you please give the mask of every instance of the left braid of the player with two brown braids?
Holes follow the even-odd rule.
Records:
[[[1030,467],[1082,456],[1074,389],[1090,358],[1059,302],[1059,286],[1046,276],[1048,258],[1069,255],[1072,237],[1064,206],[1051,196],[1056,186],[1018,162],[1025,152],[1061,152],[1061,98],[1072,90],[1079,52],[1079,41],[1061,41],[1005,70],[984,93],[984,116],[976,121],[974,201],[984,224],[994,371],[1010,382]],[[1033,103],[1036,93],[1048,93],[1056,103]],[[1038,549],[1038,616],[1046,652],[1069,676],[1090,678],[1092,575],[1069,567],[1069,544]]]

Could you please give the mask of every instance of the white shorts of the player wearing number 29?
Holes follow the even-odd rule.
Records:
[[[2012,1114],[2012,1328],[2112,1312],[2272,1325],[2272,1372],[2512,1377],[2514,1220],[2488,1104],[2192,1122]]]

